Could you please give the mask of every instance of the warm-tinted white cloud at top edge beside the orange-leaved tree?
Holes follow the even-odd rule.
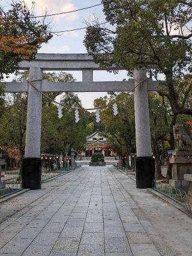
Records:
[[[30,8],[32,6],[33,0],[25,0],[25,3]],[[71,0],[37,0],[35,1],[35,13],[38,14],[52,14],[52,13],[62,13],[65,11],[73,11],[76,7]],[[61,19],[65,20],[76,20],[79,18],[78,13],[61,14],[53,17],[55,22]]]

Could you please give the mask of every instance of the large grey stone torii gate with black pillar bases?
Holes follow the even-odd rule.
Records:
[[[94,82],[94,70],[101,68],[88,54],[38,53],[34,61],[20,62],[19,70],[29,70],[29,81],[42,92],[105,92],[130,91],[146,79],[146,70],[134,70],[133,79],[122,82]],[[82,82],[47,82],[44,70],[82,70]],[[124,70],[124,69],[119,69]],[[154,159],[152,159],[149,126],[148,91],[158,91],[159,82],[147,79],[134,90],[136,125],[136,181],[137,188],[152,186]],[[5,83],[6,93],[28,93],[25,158],[22,164],[23,188],[41,188],[41,105],[42,95],[28,82]]]

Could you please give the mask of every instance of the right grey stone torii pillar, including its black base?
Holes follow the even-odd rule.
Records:
[[[146,79],[146,69],[134,70],[134,87]],[[136,185],[139,189],[152,187],[155,165],[151,150],[149,124],[148,82],[145,81],[134,90],[134,114],[136,124]]]

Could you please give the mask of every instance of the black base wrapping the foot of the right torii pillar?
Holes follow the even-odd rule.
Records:
[[[137,189],[152,187],[155,178],[155,160],[152,157],[136,157]]]

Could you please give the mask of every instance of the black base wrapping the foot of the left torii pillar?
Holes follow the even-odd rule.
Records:
[[[25,158],[22,162],[23,189],[41,189],[41,159]]]

